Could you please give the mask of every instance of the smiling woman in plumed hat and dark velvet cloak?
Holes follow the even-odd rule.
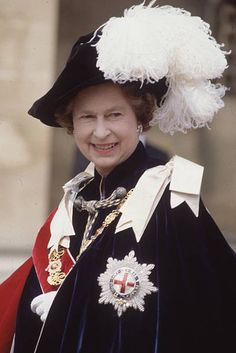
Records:
[[[65,184],[32,259],[2,285],[1,353],[14,332],[14,353],[235,352],[236,258],[200,201],[203,168],[178,156],[162,165],[139,142],[156,121],[170,133],[206,125],[225,91],[209,79],[226,61],[200,19],[152,5],[80,38],[29,111],[72,133],[91,164]],[[132,44],[139,56],[122,49],[127,34],[135,41],[135,19],[145,25],[136,26],[139,48]],[[183,40],[184,56],[171,33],[153,64],[148,26],[165,36],[168,21],[178,40],[197,38],[198,51]],[[209,53],[215,62],[207,71]]]

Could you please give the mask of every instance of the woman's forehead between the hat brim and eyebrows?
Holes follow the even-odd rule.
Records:
[[[113,106],[131,108],[120,86],[113,83],[85,88],[78,93],[73,102],[73,108],[76,110],[109,109]]]

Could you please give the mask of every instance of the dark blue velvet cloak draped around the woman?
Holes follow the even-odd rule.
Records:
[[[156,164],[139,144],[102,181],[106,197],[118,186],[130,190]],[[96,173],[84,198],[98,200],[100,184]],[[100,211],[94,229],[110,211]],[[85,211],[74,210],[74,256],[86,220]],[[114,235],[117,221],[80,257],[43,328],[29,308],[40,294],[32,269],[19,306],[14,353],[235,353],[236,256],[203,204],[199,217],[185,203],[171,209],[167,188],[139,243],[130,228]],[[123,259],[131,250],[139,263],[155,264],[150,280],[159,290],[145,297],[144,312],[129,308],[118,317],[111,304],[98,303],[97,278],[109,257]]]

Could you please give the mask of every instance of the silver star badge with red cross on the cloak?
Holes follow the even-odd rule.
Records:
[[[101,287],[99,304],[112,304],[120,317],[127,308],[144,311],[144,297],[158,288],[149,281],[153,264],[139,264],[134,251],[123,260],[110,257],[107,269],[98,277]]]

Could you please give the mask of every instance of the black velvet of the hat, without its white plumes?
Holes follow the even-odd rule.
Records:
[[[94,44],[98,34],[90,33],[78,39],[72,47],[65,68],[58,76],[52,88],[39,98],[28,111],[29,115],[41,120],[46,125],[60,127],[55,119],[55,112],[83,88],[104,83],[103,72],[97,66],[97,50]],[[140,87],[140,82],[133,83]],[[165,80],[156,84],[147,84],[142,90],[148,90],[157,97],[157,103],[165,94]]]

